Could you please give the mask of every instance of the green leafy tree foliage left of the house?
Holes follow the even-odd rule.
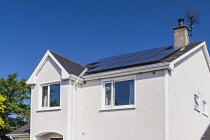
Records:
[[[30,120],[30,106],[24,101],[30,99],[30,87],[26,85],[26,79],[17,79],[18,74],[10,74],[7,79],[0,79],[0,95],[5,97],[4,112],[1,113],[4,127],[1,127],[1,135],[7,134]],[[2,139],[4,139],[1,136]]]

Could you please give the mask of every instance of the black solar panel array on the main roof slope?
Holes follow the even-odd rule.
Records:
[[[89,64],[87,73],[96,73],[110,69],[129,67],[133,65],[147,64],[162,60],[175,50],[172,46],[139,51],[119,56],[103,58]]]

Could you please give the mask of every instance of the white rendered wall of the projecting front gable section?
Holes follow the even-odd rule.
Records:
[[[36,137],[40,134],[48,134],[50,138],[54,133],[61,134],[64,140],[67,140],[67,133],[70,134],[69,125],[67,126],[67,117],[69,114],[69,103],[71,85],[70,81],[61,81],[60,68],[48,59],[36,77],[37,84],[32,89],[32,109],[31,109],[31,140],[38,140]],[[52,82],[60,82],[60,110],[41,110],[41,84],[50,84]],[[52,133],[54,132],[54,133]],[[50,134],[52,133],[52,134]],[[47,140],[47,139],[45,139]],[[69,139],[68,139],[69,140]]]

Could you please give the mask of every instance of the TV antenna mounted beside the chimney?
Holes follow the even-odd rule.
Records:
[[[194,24],[199,24],[199,11],[187,9],[187,20],[190,22],[189,26],[189,36],[192,36],[192,29]]]

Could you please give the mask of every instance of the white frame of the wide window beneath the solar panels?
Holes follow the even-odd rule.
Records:
[[[112,102],[111,105],[105,105],[105,98],[106,98],[106,93],[105,93],[105,84],[107,83],[112,83],[112,92],[113,92],[113,83],[114,82],[119,82],[119,81],[127,81],[127,80],[134,80],[134,104],[133,105],[119,105],[119,106],[114,106],[114,94],[112,93]],[[132,76],[123,76],[123,77],[118,77],[118,78],[109,78],[105,80],[101,80],[101,111],[103,110],[117,110],[117,109],[135,109],[136,108],[136,75]]]

